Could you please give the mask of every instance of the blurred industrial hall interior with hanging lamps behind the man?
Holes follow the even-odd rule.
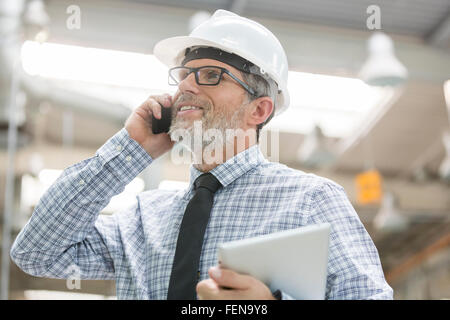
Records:
[[[216,9],[287,52],[291,106],[266,155],[345,188],[395,299],[449,299],[450,0],[0,0],[0,298],[115,299],[113,281],[29,276],[9,248],[61,170],[176,90],[155,43]],[[183,187],[188,167],[159,158],[102,214]]]

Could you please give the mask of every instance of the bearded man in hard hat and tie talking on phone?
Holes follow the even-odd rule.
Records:
[[[178,85],[153,96],[90,159],[67,168],[37,205],[11,256],[25,272],[115,279],[119,299],[292,299],[248,275],[218,267],[226,241],[329,222],[327,299],[392,299],[378,252],[336,183],[264,159],[259,130],[289,105],[287,59],[260,24],[218,10],[188,37],[158,43],[155,55]],[[172,107],[169,134],[151,116]],[[187,190],[151,190],[112,216],[112,196],[172,149],[179,132],[216,130],[215,148],[195,152]],[[226,130],[234,135],[217,138]],[[195,139],[194,139],[195,140]],[[211,142],[212,143],[212,142]],[[209,143],[201,143],[205,151]],[[231,148],[230,148],[231,146]],[[206,161],[208,160],[208,161]]]

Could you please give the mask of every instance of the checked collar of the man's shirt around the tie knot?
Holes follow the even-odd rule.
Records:
[[[264,158],[259,145],[255,144],[248,149],[238,153],[234,157],[228,159],[226,162],[219,164],[217,167],[212,169],[210,172],[220,181],[223,187],[226,187],[234,180],[238,179],[250,169],[253,169],[263,162],[268,161]],[[190,166],[190,179],[189,179],[189,189],[199,175],[203,172],[196,169],[192,164]]]

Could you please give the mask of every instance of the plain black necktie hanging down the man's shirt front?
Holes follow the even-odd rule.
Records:
[[[189,201],[181,222],[177,248],[170,275],[168,300],[195,300],[203,236],[213,205],[214,193],[221,187],[211,173],[194,182],[195,194]]]

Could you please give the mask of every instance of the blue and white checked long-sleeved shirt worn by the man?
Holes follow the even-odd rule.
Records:
[[[61,174],[17,236],[11,257],[26,273],[114,279],[118,299],[166,299],[178,231],[201,174],[186,190],[144,191],[128,210],[99,215],[151,157],[125,129],[92,158]],[[392,299],[379,256],[344,189],[331,180],[264,158],[257,145],[211,171],[214,197],[200,279],[218,264],[220,243],[309,224],[331,224],[327,299]],[[283,299],[291,297],[283,293]]]

